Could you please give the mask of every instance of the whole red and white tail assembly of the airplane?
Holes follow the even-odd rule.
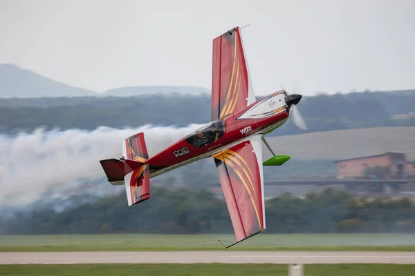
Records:
[[[144,133],[140,132],[122,143],[122,159],[101,160],[102,168],[112,185],[125,186],[128,205],[138,204],[150,198],[149,155]]]

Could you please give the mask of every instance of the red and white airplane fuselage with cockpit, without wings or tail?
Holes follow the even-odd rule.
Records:
[[[249,139],[252,135],[264,134],[282,126],[289,116],[288,106],[284,100],[286,95],[284,90],[280,90],[259,99],[239,112],[202,126],[198,129],[202,134],[199,134],[199,137],[198,130],[195,130],[158,152],[146,161],[150,164],[150,178],[212,157],[233,144]],[[219,125],[216,128],[215,123]],[[218,132],[219,139],[216,139],[215,133]]]

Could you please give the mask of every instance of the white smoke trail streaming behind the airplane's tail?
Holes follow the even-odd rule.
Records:
[[[155,127],[93,131],[39,128],[15,137],[0,135],[0,202],[2,206],[23,206],[39,199],[49,188],[76,188],[82,181],[105,177],[101,159],[122,156],[122,142],[144,132],[149,156],[192,132],[185,128]],[[109,185],[104,181],[102,185]]]

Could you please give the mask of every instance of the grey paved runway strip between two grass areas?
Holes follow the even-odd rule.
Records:
[[[415,252],[42,252],[0,253],[0,264],[115,263],[415,264]]]

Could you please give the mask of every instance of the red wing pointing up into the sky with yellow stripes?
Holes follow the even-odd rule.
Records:
[[[255,102],[239,27],[213,40],[212,121]]]

